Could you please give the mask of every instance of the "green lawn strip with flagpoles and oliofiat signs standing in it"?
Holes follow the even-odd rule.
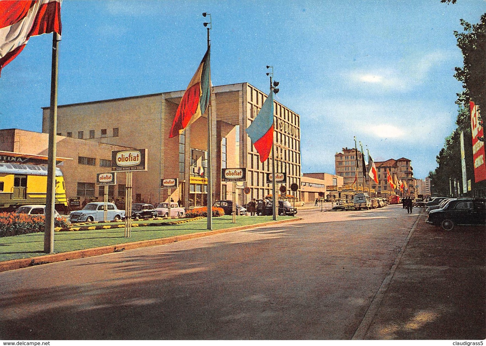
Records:
[[[292,216],[278,216],[277,220],[291,219]],[[272,216],[237,216],[236,224],[232,216],[213,217],[213,230],[253,225],[272,221]],[[156,222],[154,220],[140,222]],[[160,220],[159,222],[167,222]],[[133,223],[137,223],[134,221]],[[122,222],[121,224],[124,224]],[[98,224],[95,224],[98,225]],[[113,225],[113,224],[110,224]],[[132,227],[132,236],[125,238],[125,229],[90,230],[90,231],[60,231],[54,233],[54,252],[83,250],[93,247],[103,247],[123,243],[137,242],[207,231],[207,219],[203,218],[179,225]],[[44,255],[44,233],[31,233],[0,238],[0,262],[18,258],[29,258]]]

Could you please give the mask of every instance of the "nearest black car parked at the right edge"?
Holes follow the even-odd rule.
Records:
[[[481,198],[459,198],[433,210],[425,222],[451,231],[457,225],[486,225],[486,201]]]

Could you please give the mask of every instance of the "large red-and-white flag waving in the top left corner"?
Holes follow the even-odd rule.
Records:
[[[0,1],[0,74],[30,36],[61,34],[61,0]]]

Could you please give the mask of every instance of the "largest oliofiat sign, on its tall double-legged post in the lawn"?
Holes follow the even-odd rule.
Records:
[[[132,172],[147,170],[147,149],[113,150],[111,171],[126,172],[125,237],[132,235]]]

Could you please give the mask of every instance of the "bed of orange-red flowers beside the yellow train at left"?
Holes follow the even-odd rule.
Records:
[[[44,215],[0,213],[0,237],[44,231]],[[56,217],[54,227],[68,227],[63,217]]]

